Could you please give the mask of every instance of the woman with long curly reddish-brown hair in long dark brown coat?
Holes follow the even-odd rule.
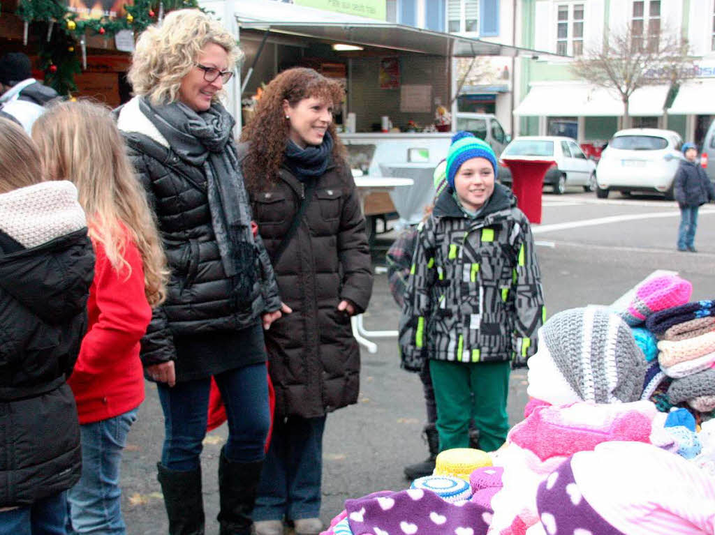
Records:
[[[275,423],[254,519],[257,535],[320,533],[325,416],[354,404],[360,349],[350,316],[373,286],[365,218],[335,134],[344,93],[312,69],[268,84],[245,126],[243,171],[282,300],[294,311],[266,333]]]

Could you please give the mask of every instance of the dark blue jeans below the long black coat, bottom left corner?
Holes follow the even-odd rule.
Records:
[[[66,491],[0,513],[0,535],[65,535]]]

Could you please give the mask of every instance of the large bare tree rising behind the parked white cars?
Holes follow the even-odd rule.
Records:
[[[621,97],[623,128],[628,128],[631,125],[628,102],[636,89],[668,84],[672,92],[680,81],[693,76],[694,63],[686,39],[676,32],[660,27],[636,31],[628,24],[621,31],[608,33],[603,46],[584,49],[571,69],[576,76]]]

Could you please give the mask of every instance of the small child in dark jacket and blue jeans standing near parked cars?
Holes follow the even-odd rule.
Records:
[[[698,149],[692,143],[683,144],[685,159],[681,160],[675,174],[675,200],[680,206],[678,250],[696,253],[695,231],[698,228],[698,209],[702,204],[715,201],[713,184],[697,162]]]

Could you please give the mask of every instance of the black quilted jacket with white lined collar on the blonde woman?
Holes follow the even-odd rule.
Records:
[[[237,309],[229,299],[232,278],[225,274],[202,168],[179,158],[142,114],[136,99],[119,110],[119,129],[138,179],[157,216],[172,274],[167,300],[154,309],[142,339],[144,366],[176,358],[174,334],[237,331],[255,326],[260,314],[280,308],[280,298],[265,247],[256,241],[260,273],[252,305]]]

